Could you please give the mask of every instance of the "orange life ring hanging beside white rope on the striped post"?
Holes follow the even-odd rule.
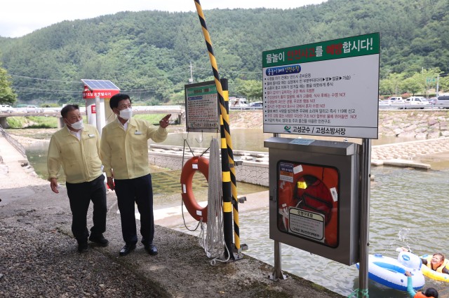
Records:
[[[187,211],[196,220],[203,222],[208,221],[208,206],[201,207],[194,197],[194,191],[192,190],[192,179],[196,171],[200,171],[206,180],[209,178],[209,159],[202,156],[194,156],[182,167],[181,171],[181,196],[184,201]]]

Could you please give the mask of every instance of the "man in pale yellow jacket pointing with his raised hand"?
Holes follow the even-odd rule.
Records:
[[[128,255],[138,242],[134,204],[137,204],[140,213],[141,242],[150,255],[157,255],[157,248],[153,244],[153,190],[148,163],[148,139],[161,142],[167,138],[166,127],[170,115],[159,122],[159,127],[132,118],[130,97],[121,93],[111,97],[109,106],[117,119],[102,129],[101,159],[105,166],[107,185],[115,190],[119,205],[121,232],[125,241],[119,255]]]

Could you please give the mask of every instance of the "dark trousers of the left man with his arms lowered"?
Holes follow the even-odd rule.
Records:
[[[87,241],[87,212],[93,203],[93,227],[91,234],[100,235],[106,231],[106,187],[105,176],[100,175],[89,182],[65,183],[72,210],[72,233],[77,241]]]

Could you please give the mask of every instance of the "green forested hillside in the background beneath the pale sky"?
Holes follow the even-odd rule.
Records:
[[[261,80],[262,51],[380,32],[381,78],[449,71],[448,0],[328,0],[289,10],[204,10],[221,77]],[[0,38],[20,101],[81,99],[81,78],[112,80],[134,98],[168,101],[190,78],[213,78],[196,13],[123,12]]]

